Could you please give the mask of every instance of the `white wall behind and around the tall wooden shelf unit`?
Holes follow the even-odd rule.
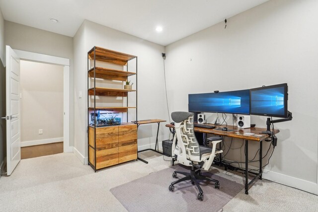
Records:
[[[75,147],[87,157],[87,52],[99,46],[138,56],[138,119],[168,120],[164,95],[163,60],[164,47],[125,34],[123,32],[84,21],[74,37],[75,59]],[[135,85],[135,84],[134,84]],[[134,86],[133,85],[133,86]],[[83,97],[78,98],[79,91]],[[134,95],[134,94],[133,94]],[[168,129],[161,124],[159,141],[167,139]],[[157,124],[140,126],[139,149],[154,147]]]

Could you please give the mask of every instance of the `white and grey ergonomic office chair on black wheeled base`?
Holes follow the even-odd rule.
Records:
[[[215,154],[223,152],[222,150],[216,151],[217,143],[219,141],[212,141],[212,148],[199,145],[194,135],[193,126],[193,113],[189,112],[173,112],[171,118],[175,122],[174,129],[176,134],[172,143],[172,157],[183,165],[191,166],[190,173],[182,171],[174,171],[172,177],[176,178],[177,173],[185,175],[185,177],[172,182],[169,185],[169,190],[174,191],[174,185],[185,181],[191,180],[192,185],[196,184],[199,190],[198,199],[203,201],[203,191],[197,180],[208,180],[215,182],[215,188],[220,189],[218,180],[202,176],[201,168],[208,171],[212,165]],[[177,145],[175,145],[177,139]]]

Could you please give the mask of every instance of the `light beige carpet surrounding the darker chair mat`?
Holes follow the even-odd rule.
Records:
[[[11,176],[0,178],[0,211],[126,212],[110,189],[170,166],[169,161],[164,161],[162,155],[155,152],[140,155],[149,163],[132,161],[96,173],[88,165],[82,165],[73,153],[23,159]],[[229,172],[216,168],[211,171],[229,180],[243,182],[241,175],[229,176]],[[198,200],[193,198],[193,201]],[[249,195],[245,195],[242,188],[223,211],[318,212],[318,196],[259,180],[251,187]]]

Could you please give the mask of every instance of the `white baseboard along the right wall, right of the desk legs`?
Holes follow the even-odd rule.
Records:
[[[317,184],[303,180],[303,179],[291,177],[285,174],[269,171],[266,169],[263,171],[263,179],[274,181],[286,186],[290,186],[296,189],[300,189],[300,190],[318,195],[318,192],[316,189]]]

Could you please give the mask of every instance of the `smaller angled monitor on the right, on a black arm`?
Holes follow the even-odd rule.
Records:
[[[287,83],[250,89],[250,114],[287,118]]]

